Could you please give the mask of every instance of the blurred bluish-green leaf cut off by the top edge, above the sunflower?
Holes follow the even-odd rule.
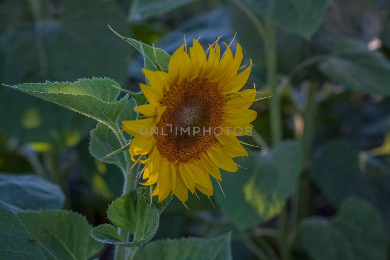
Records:
[[[131,2],[129,21],[142,21],[154,16],[160,16],[177,7],[195,0],[134,0]]]

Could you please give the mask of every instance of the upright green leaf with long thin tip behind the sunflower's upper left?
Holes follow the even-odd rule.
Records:
[[[118,34],[117,32],[115,32],[114,30],[112,30],[112,31],[116,35],[121,37],[121,39],[125,40],[126,42],[131,44],[131,46],[133,46],[138,51],[140,51],[140,53],[142,53],[142,55],[144,56],[145,69],[150,69],[151,71],[156,71],[159,69],[159,67],[157,65],[157,64],[159,64],[163,70],[165,70],[165,71],[168,70],[168,64],[169,64],[169,60],[170,60],[170,56],[168,53],[166,53],[165,51],[163,51],[159,48],[156,48],[155,49],[156,50],[156,57],[157,57],[157,59],[156,59],[156,57],[154,57],[153,47],[151,47],[145,43],[142,43],[140,41],[124,37],[124,36]]]

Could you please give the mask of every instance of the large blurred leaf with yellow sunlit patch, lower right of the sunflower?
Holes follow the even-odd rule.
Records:
[[[296,187],[302,167],[301,147],[295,141],[283,141],[266,157],[250,152],[249,158],[238,164],[247,169],[223,174],[226,198],[217,188],[215,197],[230,221],[245,229],[280,213]]]

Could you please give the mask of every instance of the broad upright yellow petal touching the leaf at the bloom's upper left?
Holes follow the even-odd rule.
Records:
[[[189,73],[192,72],[190,57],[183,50],[184,44],[177,49],[169,60],[168,76],[170,82],[179,85],[187,79]]]

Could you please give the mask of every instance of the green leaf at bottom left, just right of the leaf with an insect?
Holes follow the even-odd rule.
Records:
[[[66,210],[18,213],[38,241],[46,259],[87,260],[103,248],[90,236],[92,227],[82,215]]]

